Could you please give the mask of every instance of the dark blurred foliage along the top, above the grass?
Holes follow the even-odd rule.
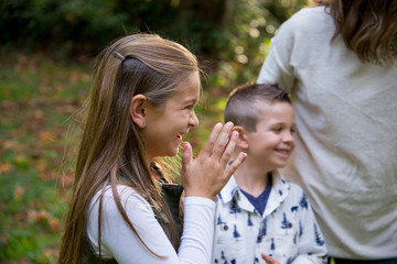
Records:
[[[264,54],[257,58],[258,53],[265,51],[259,50],[259,44],[271,37],[279,24],[303,2],[2,0],[0,43],[41,50],[50,55],[94,56],[116,37],[154,32],[187,45],[211,62],[236,58],[246,64],[247,58],[262,59]],[[243,79],[251,77],[247,75]]]

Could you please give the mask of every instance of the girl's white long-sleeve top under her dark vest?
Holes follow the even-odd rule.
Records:
[[[132,188],[118,186],[121,205],[146,245],[160,258],[150,253],[138,237],[126,224],[116,207],[111,189],[105,191],[101,224],[101,254],[114,257],[118,263],[151,264],[205,264],[210,263],[214,234],[215,202],[201,197],[184,198],[184,226],[181,246],[176,253],[163,229],[154,217],[151,206]],[[100,191],[93,198],[88,213],[87,233],[98,254],[98,209],[95,202]]]

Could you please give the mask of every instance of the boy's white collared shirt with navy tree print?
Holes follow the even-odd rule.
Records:
[[[260,253],[280,264],[326,263],[326,248],[308,197],[278,172],[265,212],[260,216],[234,177],[218,194],[212,263],[266,263]]]

